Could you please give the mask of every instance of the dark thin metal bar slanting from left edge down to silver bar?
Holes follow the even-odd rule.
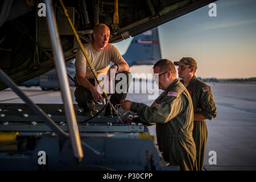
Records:
[[[44,111],[40,110],[40,107],[35,105],[34,102],[31,101],[30,98],[28,98],[26,94],[24,94],[13,81],[11,81],[11,79],[2,71],[2,69],[0,69],[0,78],[11,89],[13,89],[13,92],[15,92],[24,102],[27,103],[27,105],[31,108],[31,110],[34,111],[35,114],[37,114],[40,118],[43,119],[43,121],[47,123],[47,125],[57,134],[60,142],[64,143],[64,141],[68,138],[68,135],[65,134],[64,131],[61,130],[60,127],[57,126],[56,123],[52,121],[52,119],[49,118],[46,113],[44,113]]]

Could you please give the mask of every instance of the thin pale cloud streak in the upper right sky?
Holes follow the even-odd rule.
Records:
[[[208,24],[207,26],[201,28],[201,30],[213,30],[217,28],[228,28],[228,27],[237,27],[242,26],[245,24],[255,23],[256,19],[249,19],[249,20],[241,20],[240,22],[228,22],[228,23],[214,23]]]

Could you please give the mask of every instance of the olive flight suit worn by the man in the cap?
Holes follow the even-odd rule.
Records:
[[[183,82],[183,80],[181,80]],[[201,112],[207,119],[216,117],[216,106],[213,101],[210,86],[205,82],[193,76],[187,86],[187,90],[191,95],[194,114]],[[196,170],[203,170],[204,154],[207,146],[207,123],[203,121],[194,121],[193,138],[196,143]]]

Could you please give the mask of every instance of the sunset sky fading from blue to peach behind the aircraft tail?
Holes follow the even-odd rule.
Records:
[[[193,57],[197,77],[256,77],[256,1],[219,0],[158,27],[162,57]],[[133,38],[115,43],[123,55]]]

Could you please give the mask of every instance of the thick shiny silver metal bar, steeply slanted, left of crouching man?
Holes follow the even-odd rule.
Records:
[[[60,84],[61,93],[62,93],[61,96],[64,102],[65,117],[67,118],[67,124],[69,129],[69,136],[71,138],[73,155],[75,156],[75,158],[77,158],[77,162],[81,162],[84,155],[82,152],[79,128],[77,126],[75,110],[73,107],[71,92],[70,92],[69,83],[68,83],[68,77],[66,74],[63,49],[61,47],[56,18],[52,9],[52,1],[44,0],[44,2],[46,3],[47,24],[49,29],[49,35],[51,37],[55,67],[56,67],[57,76],[59,79],[59,84]]]

